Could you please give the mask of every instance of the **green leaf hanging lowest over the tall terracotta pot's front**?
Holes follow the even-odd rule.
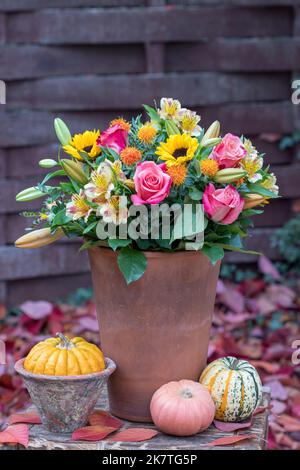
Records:
[[[142,251],[122,248],[118,254],[118,265],[127,284],[142,277],[147,268],[147,258]]]

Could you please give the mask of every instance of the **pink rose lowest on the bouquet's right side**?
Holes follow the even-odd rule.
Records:
[[[220,224],[232,224],[243,210],[244,199],[233,186],[223,189],[215,189],[209,183],[203,194],[204,212],[214,221]]]

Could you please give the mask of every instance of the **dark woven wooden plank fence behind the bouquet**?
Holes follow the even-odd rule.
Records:
[[[274,228],[300,196],[300,163],[278,139],[299,128],[291,82],[300,69],[300,0],[1,0],[0,300],[63,295],[90,282],[78,243],[17,250],[27,209],[15,202],[56,154],[52,122],[107,126],[141,103],[173,96],[223,132],[253,138],[283,197],[257,217],[248,246],[276,257]],[[244,256],[230,260],[245,261]]]

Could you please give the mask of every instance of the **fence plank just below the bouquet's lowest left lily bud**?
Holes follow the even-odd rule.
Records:
[[[87,273],[87,253],[79,252],[79,247],[73,243],[31,250],[1,246],[0,265],[5,269],[0,271],[0,281]]]

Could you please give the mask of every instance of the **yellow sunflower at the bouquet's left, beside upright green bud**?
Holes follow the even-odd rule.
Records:
[[[64,151],[77,160],[84,160],[80,155],[86,154],[87,157],[94,159],[100,155],[101,150],[97,145],[97,139],[100,131],[85,131],[83,134],[75,134],[68,145],[63,147]]]

